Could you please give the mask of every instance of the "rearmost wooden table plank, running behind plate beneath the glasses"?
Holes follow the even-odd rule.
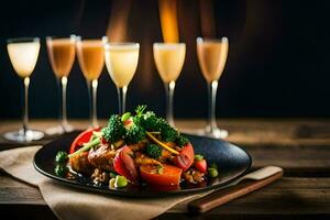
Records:
[[[87,120],[70,120],[76,129],[88,127]],[[100,120],[100,125],[107,120]],[[194,132],[204,129],[205,120],[175,120],[178,129]],[[329,119],[222,119],[218,121],[220,128],[229,131],[230,142],[254,147],[263,146],[329,146],[330,120]],[[37,130],[46,130],[58,125],[56,120],[31,120],[30,127]],[[0,133],[16,130],[20,121],[0,121]],[[0,145],[6,144],[0,139]],[[8,142],[7,142],[8,143]],[[11,143],[14,144],[14,143]]]

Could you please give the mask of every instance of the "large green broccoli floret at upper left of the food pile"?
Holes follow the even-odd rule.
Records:
[[[103,138],[107,142],[114,143],[122,139],[125,134],[125,128],[121,121],[121,117],[112,114],[108,125],[102,129]]]

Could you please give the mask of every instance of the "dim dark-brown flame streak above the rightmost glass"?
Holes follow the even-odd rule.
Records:
[[[200,29],[204,37],[216,37],[213,0],[199,0]]]

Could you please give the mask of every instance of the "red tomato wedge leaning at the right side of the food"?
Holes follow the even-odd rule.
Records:
[[[173,163],[183,168],[184,172],[187,170],[194,163],[194,148],[190,143],[186,144],[182,151],[180,154],[174,157]]]

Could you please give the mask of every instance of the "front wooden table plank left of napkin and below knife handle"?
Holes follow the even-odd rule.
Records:
[[[40,191],[0,173],[0,204],[45,206]],[[176,208],[169,212],[182,213]],[[330,215],[330,178],[289,178],[280,180],[212,209],[210,215]],[[179,215],[184,217],[185,215]]]

